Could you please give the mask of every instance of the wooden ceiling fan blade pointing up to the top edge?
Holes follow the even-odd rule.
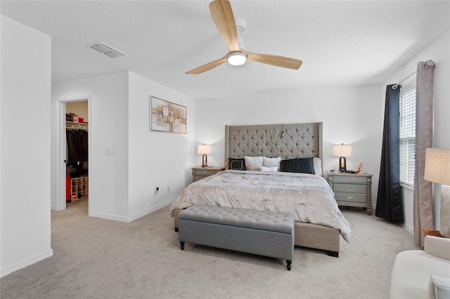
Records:
[[[212,20],[220,35],[228,44],[230,52],[239,51],[238,29],[234,20],[231,4],[227,0],[214,0],[210,3]]]

